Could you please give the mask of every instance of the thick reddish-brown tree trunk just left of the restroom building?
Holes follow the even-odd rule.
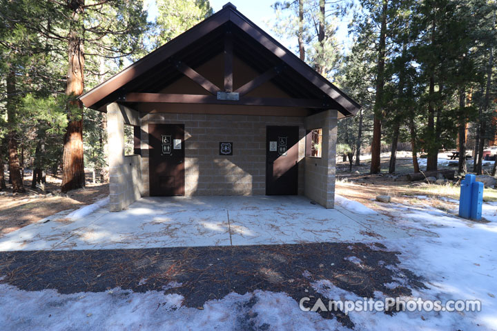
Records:
[[[84,10],[84,0],[70,2],[72,12],[72,31],[69,32],[68,43],[68,77],[66,95],[68,102],[68,127],[64,135],[64,155],[62,165],[62,192],[83,188],[84,148],[83,148],[83,105],[76,99],[84,89],[84,47],[83,39],[75,31],[79,15]]]

